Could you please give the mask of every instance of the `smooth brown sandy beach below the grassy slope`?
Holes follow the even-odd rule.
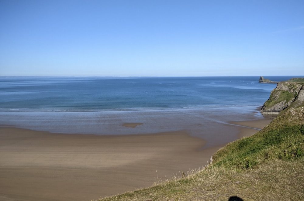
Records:
[[[269,120],[230,123],[262,128]],[[257,130],[238,127],[238,132],[243,137]],[[164,180],[202,168],[224,146],[206,149],[206,143],[187,131],[98,136],[4,126],[0,200],[91,200],[147,187],[157,175]]]

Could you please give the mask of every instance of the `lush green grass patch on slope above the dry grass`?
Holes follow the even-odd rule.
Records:
[[[287,116],[288,114],[278,117],[257,134],[234,141],[216,152],[213,156],[214,165],[242,170],[267,160],[303,157],[303,119],[302,123],[293,124],[285,122]]]

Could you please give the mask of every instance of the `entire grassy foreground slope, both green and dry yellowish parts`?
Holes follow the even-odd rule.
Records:
[[[303,200],[303,164],[304,107],[228,144],[201,171],[102,200]]]

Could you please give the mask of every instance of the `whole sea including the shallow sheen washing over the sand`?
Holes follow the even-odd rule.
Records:
[[[229,121],[263,118],[258,111],[276,84],[258,81],[259,76],[0,77],[0,124],[95,135],[187,130],[214,139],[212,131]]]

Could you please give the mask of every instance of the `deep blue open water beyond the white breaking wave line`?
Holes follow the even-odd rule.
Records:
[[[267,76],[274,81],[295,76]],[[1,111],[260,106],[276,84],[251,77],[0,77]]]

